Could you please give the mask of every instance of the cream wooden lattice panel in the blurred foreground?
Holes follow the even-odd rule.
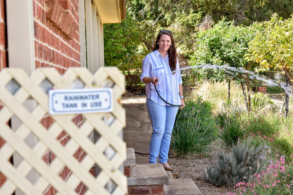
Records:
[[[15,93],[8,90],[11,81],[20,85]],[[76,81],[83,83],[84,88],[106,87],[107,84],[109,87],[112,82],[110,87],[113,88],[114,111],[110,116],[113,120],[107,122],[109,113],[84,113],[84,124],[76,127],[71,121],[74,115],[52,115],[55,122],[47,130],[40,123],[43,116],[48,115],[48,95],[46,90],[44,92],[44,81],[52,83],[55,89],[72,89]],[[31,76],[22,69],[4,69],[0,73],[0,101],[3,104],[0,110],[0,137],[6,143],[0,149],[0,172],[7,180],[0,188],[0,194],[13,194],[18,189],[25,195],[39,195],[50,185],[58,191],[57,194],[76,194],[74,190],[81,182],[87,187],[86,195],[127,194],[127,178],[123,170],[120,171],[126,160],[126,144],[121,139],[121,131],[126,123],[125,110],[120,104],[124,91],[124,76],[112,67],[100,68],[95,75],[85,68],[71,68],[64,75],[60,75],[54,68],[40,68]],[[37,105],[30,112],[23,103],[31,98]],[[13,116],[22,123],[16,131],[7,124]],[[63,130],[70,137],[65,146],[56,139]],[[99,134],[95,143],[89,139],[94,130]],[[25,142],[31,133],[39,140],[33,148]],[[81,162],[73,157],[79,147],[86,153]],[[115,151],[111,158],[106,155],[109,147]],[[42,160],[44,152],[48,150],[56,155],[50,165]],[[14,153],[23,158],[18,167],[8,161]],[[97,177],[89,172],[95,165],[100,168]],[[64,166],[72,172],[66,181],[58,175]],[[32,169],[40,175],[35,184],[26,177]],[[113,191],[105,187],[109,182],[117,185]]]

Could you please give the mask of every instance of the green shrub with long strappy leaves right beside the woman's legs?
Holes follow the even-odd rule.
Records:
[[[209,155],[207,147],[215,137],[216,123],[208,101],[186,101],[172,132],[171,150],[176,156]]]

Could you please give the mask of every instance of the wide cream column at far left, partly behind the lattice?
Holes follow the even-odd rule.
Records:
[[[35,36],[34,36],[34,16],[33,0],[8,0],[6,1],[7,15],[7,47],[9,68],[23,68],[28,75],[35,70]],[[24,106],[28,110],[32,109],[36,103],[28,100]],[[11,128],[16,129],[19,121],[15,117],[11,118]],[[29,136],[27,143],[34,146],[37,140],[34,136]],[[21,158],[13,155],[13,163],[19,164]],[[30,181],[38,180],[37,174],[28,175]],[[16,190],[16,195],[21,195],[21,191]]]

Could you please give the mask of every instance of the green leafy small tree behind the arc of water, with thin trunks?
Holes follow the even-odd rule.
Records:
[[[251,63],[245,58],[248,49],[248,43],[255,36],[253,27],[235,26],[233,22],[226,22],[224,19],[219,21],[211,29],[200,31],[195,35],[196,47],[194,54],[191,56],[192,65],[212,64],[212,65],[229,65],[234,68],[251,69]],[[198,73],[204,73],[212,81],[228,80],[228,90],[231,79],[241,80],[243,95],[246,94],[243,82],[246,78],[242,73],[230,73],[226,70],[217,70],[213,68],[204,68],[195,70]],[[198,74],[197,73],[197,74]],[[246,80],[248,83],[248,80]],[[249,86],[248,92],[249,92]],[[229,92],[229,91],[228,91]],[[229,93],[228,93],[229,98]],[[249,108],[249,97],[248,104]]]

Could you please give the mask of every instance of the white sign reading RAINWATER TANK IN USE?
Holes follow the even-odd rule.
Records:
[[[112,88],[49,90],[49,113],[51,115],[112,111]]]

